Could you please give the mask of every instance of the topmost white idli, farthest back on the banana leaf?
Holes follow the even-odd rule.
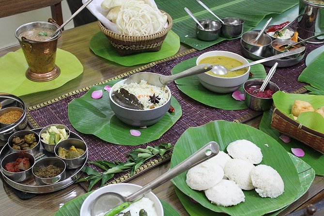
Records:
[[[239,139],[227,146],[227,152],[235,159],[243,159],[258,164],[262,161],[261,149],[251,141]]]

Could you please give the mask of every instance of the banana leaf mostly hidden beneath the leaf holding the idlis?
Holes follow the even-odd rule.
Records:
[[[295,166],[298,172],[298,178],[300,182],[300,188],[298,190],[298,194],[295,197],[295,200],[298,200],[301,196],[303,196],[309,189],[311,183],[315,178],[315,171],[303,160],[299,159],[298,157],[294,156],[293,154],[289,154],[293,161],[293,165]],[[190,201],[188,196],[186,196],[181,190],[174,187],[175,193],[178,196],[180,202],[185,207],[185,210],[189,213],[190,216],[225,216],[223,213],[215,213],[207,208],[204,208],[199,203],[193,203]],[[288,206],[287,206],[288,207]],[[287,208],[285,207],[285,208]],[[282,212],[285,208],[282,208],[278,211],[273,213],[268,213],[265,216],[276,216],[280,212]]]

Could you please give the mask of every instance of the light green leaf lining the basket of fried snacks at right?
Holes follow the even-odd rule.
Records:
[[[276,108],[287,116],[290,116],[295,100],[307,101],[314,109],[324,106],[324,95],[290,94],[278,91],[272,97]],[[303,112],[296,121],[313,130],[324,133],[324,118],[317,112]]]

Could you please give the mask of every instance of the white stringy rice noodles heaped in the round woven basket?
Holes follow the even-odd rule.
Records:
[[[142,0],[128,0],[121,6],[116,27],[121,34],[144,36],[161,31],[167,16]]]

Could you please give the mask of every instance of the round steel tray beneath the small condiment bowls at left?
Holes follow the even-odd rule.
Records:
[[[39,133],[43,128],[37,128],[37,129],[33,129],[33,131],[35,131],[36,133]],[[70,138],[75,138],[75,139],[81,139],[82,141],[84,141],[80,136],[78,136],[76,133],[71,131],[70,134]],[[50,153],[47,152],[42,144],[40,146],[40,153],[35,155],[36,161],[43,158],[43,157],[52,157],[55,156],[54,153]],[[3,157],[5,155],[9,154],[9,144],[7,143],[1,150],[0,152],[0,161],[3,159]],[[89,151],[87,152],[87,158],[84,162],[84,164],[77,168],[77,169],[71,169],[71,170],[66,170],[66,177],[64,180],[57,182],[55,184],[52,185],[43,185],[43,186],[38,186],[36,185],[36,182],[34,181],[33,178],[29,178],[28,180],[24,181],[24,182],[14,182],[11,179],[9,179],[6,175],[4,175],[0,169],[0,172],[3,176],[3,179],[6,183],[8,183],[8,185],[14,187],[17,190],[20,191],[24,191],[24,192],[28,192],[28,193],[34,193],[34,194],[44,194],[44,193],[50,193],[50,192],[54,192],[54,191],[58,191],[61,190],[69,185],[72,185],[74,183],[74,181],[76,180],[76,175],[77,173],[82,169],[82,167],[85,166],[85,164],[87,163],[87,159],[88,159],[88,154]]]

